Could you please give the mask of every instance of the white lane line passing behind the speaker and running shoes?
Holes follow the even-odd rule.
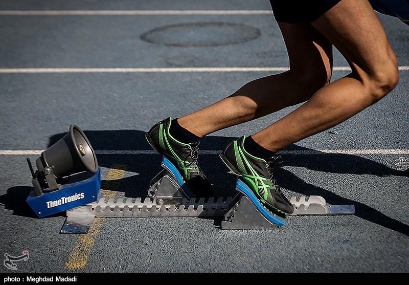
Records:
[[[40,155],[43,150],[0,150],[0,155]],[[156,155],[157,152],[150,149],[132,150],[132,149],[104,149],[95,150],[97,155]],[[221,150],[203,149],[200,154],[216,155]],[[310,150],[281,150],[282,155],[327,155],[327,154],[345,154],[345,155],[409,155],[409,149],[310,149]]]

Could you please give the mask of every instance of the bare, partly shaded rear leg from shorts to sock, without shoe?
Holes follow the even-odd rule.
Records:
[[[231,96],[180,117],[178,122],[199,137],[308,100],[329,83],[331,43],[309,24],[279,24],[290,70],[248,82]]]

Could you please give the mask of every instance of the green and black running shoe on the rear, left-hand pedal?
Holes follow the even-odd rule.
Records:
[[[153,125],[145,134],[147,141],[173,163],[193,196],[211,197],[212,186],[197,162],[199,143],[183,143],[174,139],[169,133],[171,123],[172,118],[169,117]]]

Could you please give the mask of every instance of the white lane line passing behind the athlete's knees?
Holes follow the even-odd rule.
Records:
[[[408,71],[409,65],[400,65]],[[225,68],[0,68],[0,73],[166,73],[166,72],[276,72],[288,67],[225,67]],[[334,67],[334,71],[350,71],[350,67]]]

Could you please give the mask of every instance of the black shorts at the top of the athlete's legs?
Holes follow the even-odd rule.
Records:
[[[341,0],[270,0],[278,22],[311,23]]]

